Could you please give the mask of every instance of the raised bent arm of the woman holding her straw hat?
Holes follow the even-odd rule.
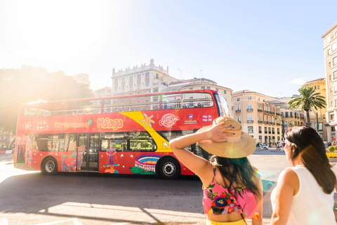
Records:
[[[170,141],[170,147],[178,160],[180,160],[180,162],[182,162],[188,169],[194,172],[194,174],[197,174],[201,181],[204,182],[203,178],[209,176],[209,169],[212,167],[211,164],[208,160],[201,158],[198,155],[194,155],[194,153],[191,153],[185,148],[192,145],[193,143],[204,140],[225,141],[226,137],[230,135],[226,133],[226,131],[229,130],[229,126],[220,123],[214,127],[211,127],[210,129],[206,129],[205,131],[172,139]]]

